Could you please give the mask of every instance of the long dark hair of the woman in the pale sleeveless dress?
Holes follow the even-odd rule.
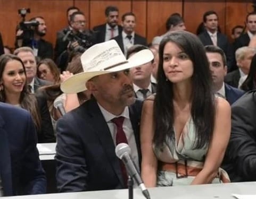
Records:
[[[174,42],[184,50],[193,63],[191,116],[195,124],[194,149],[209,143],[214,125],[215,105],[212,77],[208,58],[201,41],[192,33],[174,31],[163,38],[159,46],[158,84],[154,100],[155,133],[153,142],[162,148],[167,137],[174,135],[173,84],[163,71],[163,50],[168,42]]]

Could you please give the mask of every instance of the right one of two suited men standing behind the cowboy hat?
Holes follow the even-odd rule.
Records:
[[[113,39],[118,42],[123,54],[127,54],[127,49],[135,44],[147,46],[146,38],[134,32],[136,17],[134,13],[128,12],[122,15],[122,33]]]

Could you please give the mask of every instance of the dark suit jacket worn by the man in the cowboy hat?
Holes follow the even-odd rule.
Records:
[[[142,101],[138,100],[129,107],[139,160],[141,108]],[[115,145],[96,100],[88,100],[65,114],[56,129],[56,179],[60,192],[125,188]]]

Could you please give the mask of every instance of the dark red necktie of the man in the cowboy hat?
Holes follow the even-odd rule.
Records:
[[[112,122],[117,126],[117,134],[115,135],[115,142],[117,145],[119,143],[127,143],[128,144],[125,132],[123,131],[123,128],[122,128],[124,119],[125,118],[122,116],[112,119]],[[122,171],[122,177],[125,182],[125,187],[127,187],[128,176],[127,176],[126,167],[123,164],[122,160],[120,160],[120,166],[121,166],[121,171]]]

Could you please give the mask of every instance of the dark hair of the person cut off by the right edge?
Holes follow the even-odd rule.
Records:
[[[256,54],[252,57],[249,73],[240,86],[240,89],[244,91],[250,91],[256,89]]]

